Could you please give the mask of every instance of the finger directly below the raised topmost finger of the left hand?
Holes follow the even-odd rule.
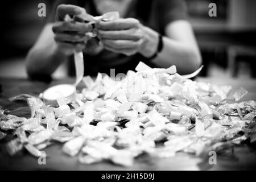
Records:
[[[92,24],[80,22],[56,22],[52,27],[53,32],[74,31],[79,32],[79,34],[85,34],[92,30]]]

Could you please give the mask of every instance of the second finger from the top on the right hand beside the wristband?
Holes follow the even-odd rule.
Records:
[[[111,40],[139,40],[142,38],[142,31],[136,30],[135,28],[130,30],[114,30],[114,31],[103,31],[98,30],[98,35],[101,39]]]

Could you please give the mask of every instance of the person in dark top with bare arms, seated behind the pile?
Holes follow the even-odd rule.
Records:
[[[84,52],[85,74],[126,73],[139,61],[151,67],[176,65],[191,73],[201,64],[200,51],[181,0],[59,1],[27,55],[30,77],[50,76],[74,51]],[[118,11],[121,18],[96,24],[97,38],[85,35],[92,23],[64,22],[66,14],[98,16]],[[55,18],[53,18],[55,17]],[[98,40],[101,43],[98,43]]]

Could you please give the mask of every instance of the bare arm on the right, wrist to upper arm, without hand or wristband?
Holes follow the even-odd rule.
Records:
[[[148,27],[142,30],[145,41],[140,53],[144,57],[152,57],[158,49],[159,34]],[[190,24],[185,21],[170,23],[166,35],[163,37],[163,49],[151,62],[160,68],[176,65],[181,74],[196,71],[201,64],[201,55]]]

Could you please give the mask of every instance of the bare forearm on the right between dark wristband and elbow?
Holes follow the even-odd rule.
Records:
[[[163,37],[163,45],[163,50],[152,60],[152,63],[162,68],[176,65],[177,71],[184,74],[191,73],[200,67],[200,52],[191,44]]]

